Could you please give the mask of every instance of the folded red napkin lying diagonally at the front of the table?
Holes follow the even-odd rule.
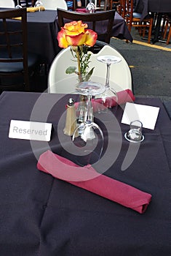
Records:
[[[121,181],[98,173],[91,165],[80,167],[52,151],[46,151],[39,157],[39,170],[53,177],[67,181],[101,197],[132,208],[143,214],[151,202],[151,195]]]

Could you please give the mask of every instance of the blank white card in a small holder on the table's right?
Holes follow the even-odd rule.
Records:
[[[127,102],[122,116],[122,123],[130,124],[131,121],[139,120],[144,128],[154,129],[158,114],[158,107]]]

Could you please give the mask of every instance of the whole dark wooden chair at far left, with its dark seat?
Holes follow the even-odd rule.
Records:
[[[0,89],[30,91],[28,72],[39,59],[28,53],[26,8],[1,11],[0,22]]]

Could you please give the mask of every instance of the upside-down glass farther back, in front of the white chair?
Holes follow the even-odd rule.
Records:
[[[116,91],[110,87],[109,80],[110,80],[110,67],[111,64],[116,64],[121,61],[121,59],[117,56],[113,55],[101,55],[98,56],[98,61],[105,63],[107,67],[106,71],[106,83],[105,83],[105,88],[106,90],[103,92],[103,94],[98,95],[98,98],[101,99],[101,104],[104,106],[100,107],[101,109],[99,110],[102,112],[105,112],[104,110],[108,110],[108,108],[112,108],[114,105],[117,104],[118,102],[118,97],[116,94]]]

